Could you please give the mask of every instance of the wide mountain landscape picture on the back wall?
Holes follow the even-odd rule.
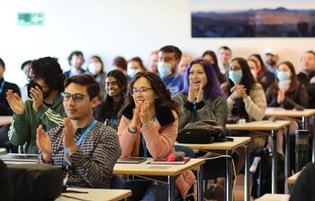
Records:
[[[192,37],[314,37],[314,0],[191,0]]]

